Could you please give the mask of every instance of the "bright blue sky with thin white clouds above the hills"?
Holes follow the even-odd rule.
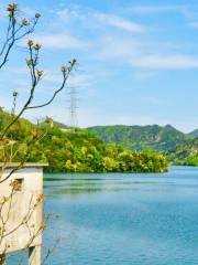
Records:
[[[0,23],[4,25],[0,3]],[[20,15],[40,11],[32,36],[43,44],[43,84],[35,102],[48,98],[59,84],[59,65],[78,60],[69,86],[78,89],[78,124],[172,124],[190,131],[198,127],[198,2],[183,0],[19,0]],[[2,34],[2,28],[0,31]],[[1,36],[2,38],[2,36]],[[29,91],[24,43],[18,43],[1,72],[0,105],[19,106]],[[65,92],[50,107],[26,113],[68,121]]]

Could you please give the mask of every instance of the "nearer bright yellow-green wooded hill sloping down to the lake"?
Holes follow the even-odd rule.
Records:
[[[0,112],[0,131],[13,115]],[[85,129],[63,130],[47,119],[36,127],[20,119],[0,145],[0,161],[48,162],[48,172],[164,172],[167,162],[156,151],[132,151],[106,144]],[[67,128],[67,127],[66,127]],[[40,140],[37,140],[40,139]]]

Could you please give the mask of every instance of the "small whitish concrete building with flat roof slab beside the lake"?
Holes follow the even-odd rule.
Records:
[[[29,264],[41,264],[44,163],[0,163],[0,265],[6,254],[30,248]]]

